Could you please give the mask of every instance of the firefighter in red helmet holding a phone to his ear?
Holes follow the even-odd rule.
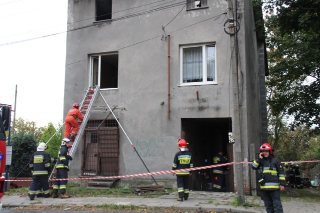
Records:
[[[283,213],[280,191],[284,190],[285,177],[279,159],[272,155],[269,144],[262,144],[259,157],[251,164],[258,170],[256,179],[260,184],[260,197],[267,213]]]

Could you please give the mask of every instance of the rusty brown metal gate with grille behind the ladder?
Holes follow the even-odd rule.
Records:
[[[119,128],[112,120],[88,121],[84,129],[82,175],[117,176]]]

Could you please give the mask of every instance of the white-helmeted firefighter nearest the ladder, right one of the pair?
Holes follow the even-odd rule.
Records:
[[[69,171],[69,160],[72,160],[72,157],[69,156],[69,143],[70,140],[67,138],[63,138],[61,142],[61,147],[58,153],[58,159],[56,162],[56,179],[67,179],[68,178],[68,171]],[[66,194],[66,183],[67,181],[54,181],[53,184],[53,198],[58,198],[58,192],[60,192],[61,199],[69,198]]]

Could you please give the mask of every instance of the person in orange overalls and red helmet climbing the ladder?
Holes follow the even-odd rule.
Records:
[[[65,117],[64,138],[75,139],[75,135],[79,130],[76,119],[78,118],[80,121],[83,120],[79,106],[78,103],[74,103]]]

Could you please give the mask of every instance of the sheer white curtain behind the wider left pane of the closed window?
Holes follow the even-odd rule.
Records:
[[[182,81],[202,81],[202,47],[183,48]]]

